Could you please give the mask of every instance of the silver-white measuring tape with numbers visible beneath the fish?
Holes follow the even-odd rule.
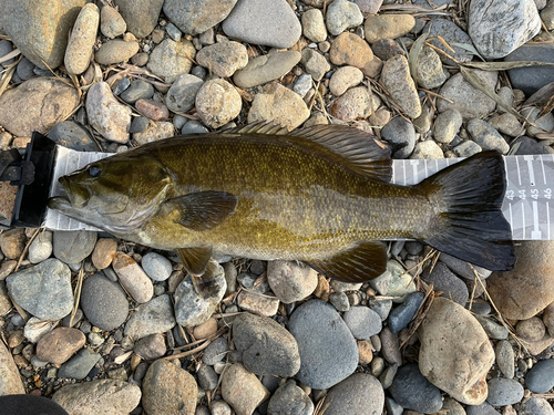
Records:
[[[63,194],[58,178],[89,163],[112,156],[113,153],[83,153],[58,146],[51,196]],[[507,187],[502,212],[512,227],[513,240],[554,239],[554,155],[504,156]],[[409,186],[434,175],[463,158],[394,159],[392,179],[397,185]],[[48,209],[44,227],[53,230],[101,230]]]

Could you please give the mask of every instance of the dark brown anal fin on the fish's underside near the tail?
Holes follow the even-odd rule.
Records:
[[[307,262],[326,277],[345,282],[365,282],[387,270],[387,249],[382,242],[366,241],[335,257]]]

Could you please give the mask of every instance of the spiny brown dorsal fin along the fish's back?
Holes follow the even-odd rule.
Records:
[[[258,122],[245,127],[224,132],[225,134],[261,134],[278,135],[278,138],[291,144],[314,148],[319,144],[334,160],[341,163],[353,172],[369,176],[375,180],[390,181],[392,177],[392,160],[389,147],[376,136],[361,129],[342,125],[314,125],[289,132],[286,127],[266,122]]]

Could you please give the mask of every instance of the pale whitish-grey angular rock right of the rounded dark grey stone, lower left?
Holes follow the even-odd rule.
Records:
[[[124,334],[142,339],[148,334],[164,333],[175,325],[170,295],[163,294],[136,308],[125,324]]]

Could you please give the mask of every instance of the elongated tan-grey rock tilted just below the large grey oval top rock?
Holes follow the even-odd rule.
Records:
[[[250,59],[248,64],[235,72],[233,81],[238,87],[253,87],[286,75],[300,62],[298,51],[273,52]]]

